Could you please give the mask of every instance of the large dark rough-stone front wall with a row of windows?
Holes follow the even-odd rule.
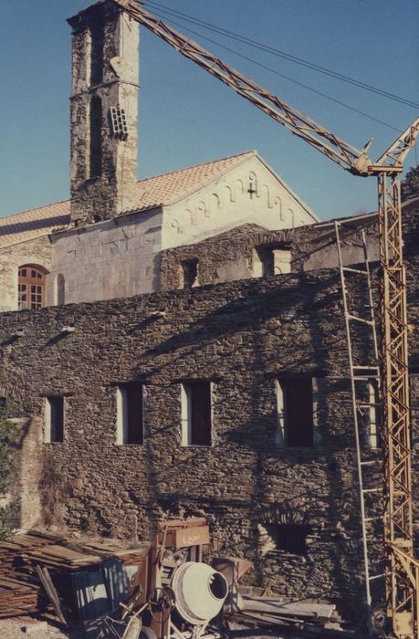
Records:
[[[411,366],[417,372],[417,211],[405,222],[415,324]],[[63,331],[69,324],[74,332]],[[17,328],[21,337],[13,336]],[[20,480],[22,513],[30,523],[37,499],[49,523],[123,538],[149,537],[157,519],[207,515],[214,553],[254,560],[249,581],[290,596],[361,598],[336,269],[4,313],[0,345],[2,393],[28,416]],[[365,343],[355,347],[365,350]],[[275,381],[284,373],[314,379],[312,448],[276,445]],[[194,379],[214,383],[210,447],[181,445],[181,382]],[[132,380],[145,388],[144,443],[116,445],[116,385]],[[412,388],[417,405],[417,375]],[[40,445],[44,398],[57,394],[66,401],[64,442]],[[379,452],[370,456],[379,463]],[[415,455],[415,482],[418,477]],[[305,552],[275,549],[266,533],[278,513],[308,523]],[[375,534],[379,561],[379,528]]]

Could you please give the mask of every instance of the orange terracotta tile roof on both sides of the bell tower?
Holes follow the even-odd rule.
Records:
[[[144,211],[162,204],[172,204],[186,194],[194,193],[217,175],[221,175],[236,163],[243,162],[254,154],[253,151],[240,153],[214,162],[196,164],[186,169],[140,180],[135,187],[138,204],[132,211]],[[0,246],[10,246],[36,237],[47,236],[69,223],[69,200],[40,206],[24,213],[16,213],[16,215],[0,217]]]

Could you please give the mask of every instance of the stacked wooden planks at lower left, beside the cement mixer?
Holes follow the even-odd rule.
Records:
[[[126,549],[112,540],[84,542],[32,530],[17,534],[0,542],[0,618],[47,610],[49,603],[37,565],[47,568],[64,613],[71,613],[71,573],[97,570],[103,560],[110,558],[140,565],[148,549],[148,544]]]

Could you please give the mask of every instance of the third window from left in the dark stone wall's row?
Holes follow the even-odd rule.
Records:
[[[212,445],[212,383],[183,383],[182,445]]]

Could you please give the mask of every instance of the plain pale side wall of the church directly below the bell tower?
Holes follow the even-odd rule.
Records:
[[[162,213],[126,215],[52,236],[47,299],[57,297],[58,275],[65,303],[125,298],[160,288]]]

